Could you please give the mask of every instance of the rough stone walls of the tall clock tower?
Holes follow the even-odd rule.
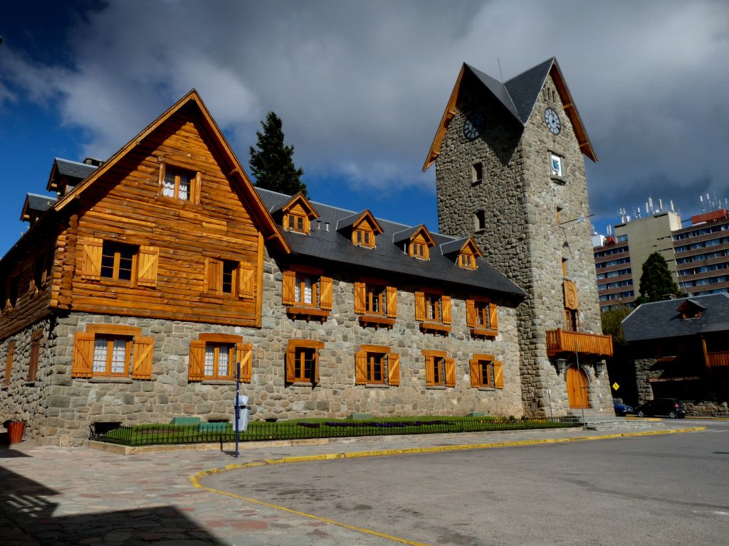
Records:
[[[590,223],[577,221],[590,213],[584,159],[559,100],[547,103],[540,95],[522,130],[501,103],[477,92],[478,85],[464,80],[437,159],[440,232],[473,234],[484,258],[526,291],[518,307],[524,411],[564,414],[569,404],[555,399],[567,400],[566,384],[547,358],[546,331],[564,328],[565,278],[577,285],[580,331],[601,333]],[[546,85],[555,89],[551,78]],[[545,126],[547,106],[561,113],[560,135]],[[462,128],[472,111],[486,112],[487,123],[479,138],[468,141]],[[550,152],[564,157],[561,181],[550,178]],[[472,181],[476,162],[483,164],[481,183]],[[483,229],[477,229],[477,212],[485,219]],[[592,392],[591,407],[612,411],[607,373]]]

